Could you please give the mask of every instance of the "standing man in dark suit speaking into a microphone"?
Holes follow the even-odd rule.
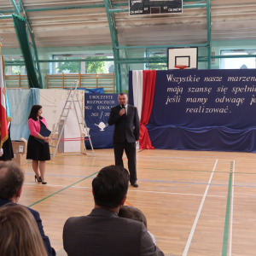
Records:
[[[128,159],[131,186],[138,187],[136,171],[136,142],[140,137],[140,120],[137,108],[128,105],[128,96],[119,93],[119,105],[111,108],[108,125],[114,125],[113,152],[116,166],[124,167],[123,154]]]

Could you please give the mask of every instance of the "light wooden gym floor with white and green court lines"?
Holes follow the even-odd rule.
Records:
[[[94,207],[92,178],[113,162],[113,149],[96,150],[95,158],[61,154],[47,162],[47,185],[34,182],[31,163],[22,166],[19,202],[40,212],[56,251],[67,218]],[[126,203],[144,212],[165,255],[255,255],[255,167],[251,153],[138,150],[139,187],[129,187]]]

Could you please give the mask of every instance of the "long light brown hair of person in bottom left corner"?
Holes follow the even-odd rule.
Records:
[[[0,207],[0,255],[47,256],[38,224],[26,207]]]

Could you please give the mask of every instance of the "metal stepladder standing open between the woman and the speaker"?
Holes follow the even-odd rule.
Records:
[[[61,110],[61,114],[60,114],[60,118],[58,119],[58,123],[56,125],[54,125],[51,141],[49,143],[49,147],[54,148],[54,153],[50,154],[51,160],[54,160],[55,154],[57,153],[57,149],[59,147],[60,142],[64,141],[64,142],[68,143],[68,141],[73,141],[73,138],[68,138],[66,140],[65,138],[62,137],[62,135],[64,135],[64,133],[63,133],[64,128],[65,128],[65,125],[67,124],[67,119],[68,119],[68,116],[70,115],[70,111],[72,108],[74,109],[75,116],[78,121],[80,135],[82,135],[83,131],[85,131],[85,134],[90,141],[91,152],[92,152],[93,156],[95,156],[94,148],[92,146],[91,139],[90,139],[89,129],[88,129],[88,127],[86,125],[86,121],[84,119],[84,111],[83,111],[83,108],[79,101],[78,87],[79,87],[79,81],[78,80],[73,81],[73,84],[71,85],[70,89],[68,89],[67,100],[64,103],[64,107]],[[58,137],[56,137],[56,135],[58,135]],[[76,137],[74,139],[76,139],[76,140],[79,139],[80,141],[82,141],[85,154],[89,154],[89,152],[86,148],[86,145],[84,143],[84,137]],[[55,143],[55,142],[57,142],[57,143]]]

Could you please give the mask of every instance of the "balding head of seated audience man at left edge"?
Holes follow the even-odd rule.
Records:
[[[0,198],[17,202],[23,182],[24,172],[15,162],[0,162]]]

